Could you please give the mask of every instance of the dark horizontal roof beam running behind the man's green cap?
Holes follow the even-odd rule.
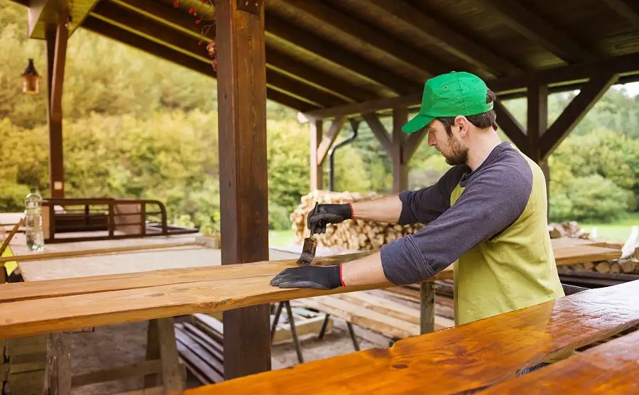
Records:
[[[550,92],[564,92],[564,90],[576,90],[585,84],[593,72],[597,70],[612,71],[632,80],[639,80],[639,53],[620,55],[604,60],[586,62],[578,65],[567,65],[553,67],[547,70],[530,72],[528,74],[516,75],[512,77],[502,77],[494,80],[486,80],[486,84],[498,96],[512,96],[515,93],[525,94],[530,80],[534,79],[539,83],[548,85]],[[635,77],[636,76],[636,77]],[[621,80],[621,78],[620,78]],[[359,115],[364,112],[378,112],[394,107],[415,107],[422,100],[422,92],[413,92],[398,97],[371,100],[370,102],[358,104],[345,104],[344,106],[319,109],[306,112],[309,118],[332,118],[349,117]]]

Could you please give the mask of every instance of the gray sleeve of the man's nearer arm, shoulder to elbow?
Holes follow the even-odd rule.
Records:
[[[500,233],[521,215],[532,191],[532,171],[498,164],[476,175],[457,202],[416,234],[380,250],[384,274],[395,285],[435,276],[469,249]],[[521,167],[521,166],[518,166]]]

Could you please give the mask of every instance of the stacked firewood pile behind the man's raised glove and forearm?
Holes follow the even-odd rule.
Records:
[[[309,234],[306,227],[306,217],[315,207],[315,202],[320,204],[343,204],[375,198],[379,198],[379,196],[376,194],[363,196],[359,193],[327,190],[316,190],[302,196],[302,203],[290,215],[296,241],[302,242]],[[328,224],[326,233],[316,237],[317,244],[323,247],[372,251],[380,249],[383,245],[395,239],[400,239],[407,234],[413,234],[422,229],[423,226],[422,224],[401,226],[376,221],[347,220],[340,224]]]

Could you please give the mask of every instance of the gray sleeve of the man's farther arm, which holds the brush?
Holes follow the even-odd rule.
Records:
[[[402,212],[398,224],[427,224],[442,215],[450,207],[450,193],[459,183],[462,171],[462,166],[454,166],[434,185],[400,193]]]

